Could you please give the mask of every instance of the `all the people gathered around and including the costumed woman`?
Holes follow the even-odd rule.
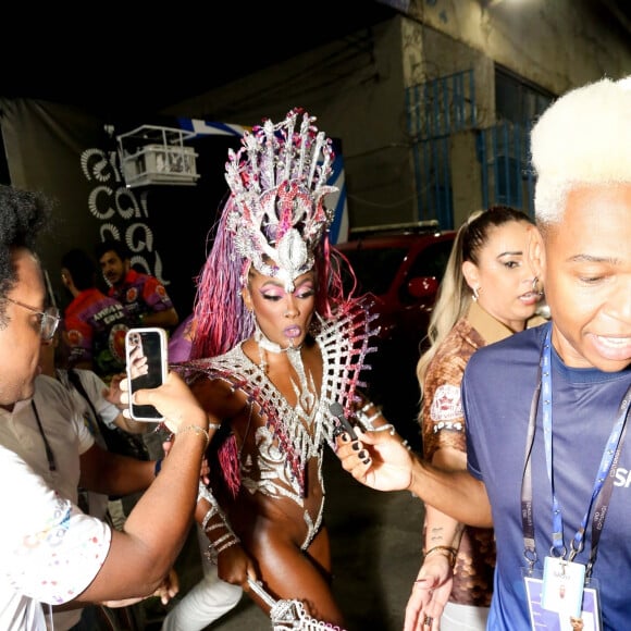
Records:
[[[134,395],[170,433],[149,459],[98,438],[97,417],[139,429],[98,313],[120,331],[173,331],[163,285],[108,242],[106,296],[73,250],[58,332],[35,249],[49,205],[0,187],[0,474],[15,507],[0,527],[0,627],[78,631],[89,605],[168,602],[194,527],[203,579],[165,630],[205,629],[243,592],[272,627],[347,628],[324,519],[330,448],[360,483],[425,505],[406,631],[624,628],[630,140],[629,82],[568,92],[532,131],[535,222],[492,207],[459,228],[417,371],[422,455],[363,388],[379,352],[371,299],[342,282],[333,150],[308,112],[265,120],[228,152],[230,196],[168,379]],[[536,319],[544,296],[549,320]],[[58,339],[69,370],[95,373],[89,400],[51,361]],[[116,528],[107,498],[134,492]]]

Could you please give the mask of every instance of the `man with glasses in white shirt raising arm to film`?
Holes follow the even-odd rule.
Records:
[[[0,186],[0,423],[10,425],[30,406],[42,339],[52,337],[59,322],[59,313],[45,306],[34,252],[48,216],[41,196]],[[127,384],[121,385],[126,404]],[[162,585],[191,522],[208,418],[174,373],[163,386],[136,393],[135,401],[158,407],[175,437],[123,532],[54,490],[49,477],[58,474],[58,462],[50,441],[39,436],[35,445],[48,465],[46,477],[0,446],[0,629],[41,631],[45,607],[140,598]]]

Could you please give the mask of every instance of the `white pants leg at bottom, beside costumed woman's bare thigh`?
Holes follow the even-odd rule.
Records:
[[[197,539],[203,578],[169,611],[162,631],[201,631],[236,607],[242,598],[243,590],[222,581],[216,574],[216,566],[203,554],[208,549],[208,537],[199,524]]]

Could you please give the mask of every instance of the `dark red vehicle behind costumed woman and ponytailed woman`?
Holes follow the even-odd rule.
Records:
[[[376,299],[381,332],[379,350],[369,356],[370,395],[417,449],[416,366],[455,237],[430,221],[354,230],[335,246],[355,270],[358,293]]]

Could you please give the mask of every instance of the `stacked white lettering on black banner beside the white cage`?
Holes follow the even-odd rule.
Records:
[[[81,154],[82,171],[96,186],[88,194],[88,210],[100,223],[101,240],[123,242],[132,252],[132,265],[170,285],[163,276],[162,258],[154,250],[153,231],[148,222],[147,191],[136,193],[125,186],[116,151],[86,149]],[[151,264],[152,261],[153,263]]]

